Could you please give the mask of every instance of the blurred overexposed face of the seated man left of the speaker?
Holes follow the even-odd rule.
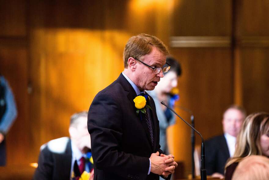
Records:
[[[79,117],[77,126],[69,128],[71,140],[74,141],[80,151],[91,148],[90,134],[87,127],[87,117]]]

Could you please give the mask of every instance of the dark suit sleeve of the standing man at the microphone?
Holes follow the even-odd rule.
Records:
[[[115,98],[98,93],[88,113],[88,131],[91,137],[91,149],[94,166],[123,178],[131,175],[146,179],[149,170],[149,158],[125,153],[122,142],[122,110]]]

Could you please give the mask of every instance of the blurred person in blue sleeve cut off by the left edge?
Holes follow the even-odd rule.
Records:
[[[0,166],[6,165],[5,136],[17,117],[17,107],[9,83],[0,74]]]

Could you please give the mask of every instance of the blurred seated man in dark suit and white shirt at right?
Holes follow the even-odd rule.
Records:
[[[238,105],[231,105],[223,113],[223,135],[205,141],[205,167],[207,175],[224,178],[226,161],[234,155],[236,136],[245,120],[246,112]]]

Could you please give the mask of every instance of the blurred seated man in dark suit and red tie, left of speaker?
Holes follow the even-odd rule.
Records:
[[[92,164],[89,162],[91,147],[87,115],[86,111],[72,115],[69,126],[70,138],[50,140],[41,146],[38,167],[33,179],[79,179],[84,170],[90,172]]]

